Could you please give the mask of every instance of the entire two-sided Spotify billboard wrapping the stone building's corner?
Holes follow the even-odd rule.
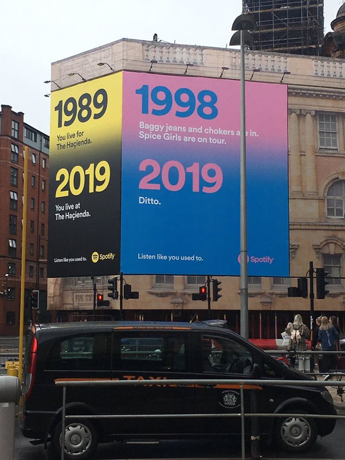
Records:
[[[49,276],[120,271],[239,275],[240,82],[123,72],[58,91],[52,94],[59,97],[52,106],[51,148],[62,129],[56,128],[58,105],[66,105],[64,120],[73,111],[68,98],[79,101],[86,90],[92,96],[92,91],[96,94],[102,88],[108,97],[104,115],[79,121],[81,126],[75,125],[73,132],[93,127],[93,147],[87,150],[83,145],[79,150],[85,159],[83,168],[86,172],[91,161],[96,168],[106,159],[109,184],[98,194],[83,189],[75,200],[82,202],[83,196],[84,210],[92,209],[93,203],[96,221],[85,219],[86,225],[77,230],[75,223],[64,227],[50,215],[54,237],[50,227],[49,242],[55,253],[66,252],[67,258],[78,248],[79,257],[87,260],[56,263],[49,252]],[[82,107],[85,101],[84,97]],[[99,95],[95,113],[103,111],[102,101]],[[90,107],[94,111],[92,103]],[[87,113],[83,109],[82,117]],[[246,130],[248,275],[289,276],[285,85],[246,83]],[[57,171],[68,169],[65,151],[54,148],[51,184]],[[78,164],[73,156],[69,171]],[[70,183],[78,189],[79,180],[75,173]],[[50,212],[56,214],[59,200],[53,196]],[[66,249],[69,234],[72,244]],[[58,235],[59,249],[55,247]],[[94,252],[115,255],[95,262]],[[65,274],[67,267],[72,274]]]

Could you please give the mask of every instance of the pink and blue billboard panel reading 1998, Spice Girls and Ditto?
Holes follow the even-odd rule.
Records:
[[[124,72],[121,271],[239,275],[240,82]],[[246,83],[248,275],[289,276],[287,89]]]

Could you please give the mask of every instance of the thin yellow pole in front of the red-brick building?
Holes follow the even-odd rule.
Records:
[[[27,248],[27,206],[28,206],[28,165],[29,147],[24,148],[24,202],[23,202],[23,228],[22,228],[22,274],[21,274],[21,310],[19,320],[19,381],[23,376],[23,342],[24,342],[24,301],[25,301],[25,261]]]

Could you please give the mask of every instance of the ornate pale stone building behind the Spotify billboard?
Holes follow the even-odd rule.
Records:
[[[343,7],[339,10],[340,17]],[[339,13],[338,18],[339,19]],[[335,28],[335,20],[332,25]],[[337,24],[337,23],[336,23]],[[334,29],[335,30],[335,29]],[[169,73],[239,79],[239,51],[122,39],[52,64],[52,80],[62,88],[77,84],[79,73],[95,79],[113,70]],[[107,65],[99,66],[99,63]],[[192,65],[192,66],[191,66]],[[294,277],[305,276],[309,261],[333,278],[325,300],[315,310],[335,313],[345,328],[345,61],[336,56],[314,57],[269,52],[246,52],[246,79],[286,84],[288,88],[289,207],[291,278],[249,277],[249,334],[252,338],[280,336],[294,313],[309,321],[309,300],[287,297]],[[54,88],[52,88],[54,91]],[[274,215],[274,210],[272,210]],[[181,220],[183,225],[183,220]],[[269,224],[268,224],[269,225]],[[107,278],[97,289],[107,298]],[[207,303],[192,301],[204,284],[196,276],[125,276],[139,300],[124,301],[126,319],[191,320],[207,317]],[[239,278],[223,277],[221,294],[212,302],[213,317],[226,318],[239,330]],[[327,287],[327,288],[328,288]],[[53,319],[85,319],[92,313],[92,281],[87,277],[49,280],[49,308]],[[117,317],[119,301],[98,317]]]

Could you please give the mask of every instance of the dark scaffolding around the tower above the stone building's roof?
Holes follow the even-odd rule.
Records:
[[[323,0],[242,0],[255,16],[252,50],[317,56],[323,41]]]

